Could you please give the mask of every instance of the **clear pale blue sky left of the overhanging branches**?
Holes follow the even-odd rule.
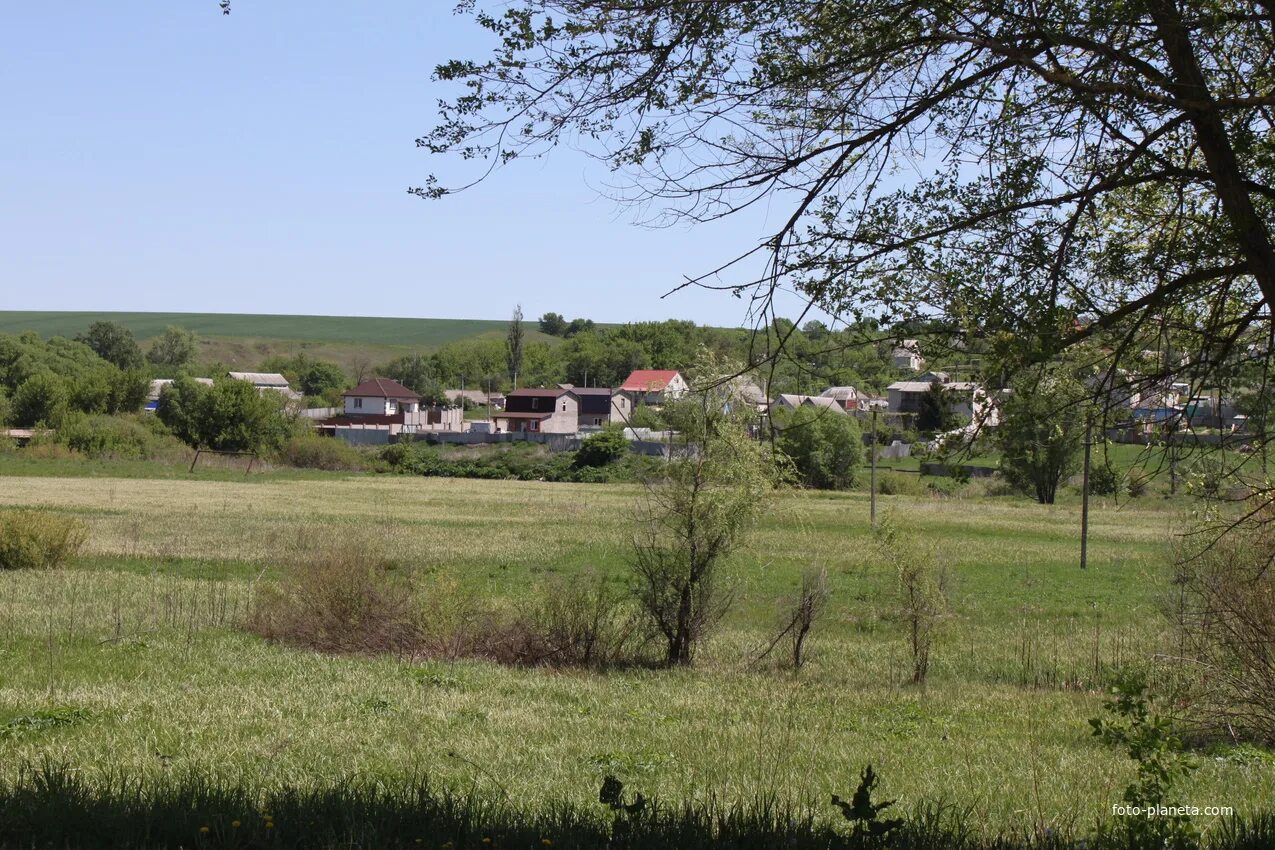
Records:
[[[764,234],[650,229],[571,149],[441,201],[414,139],[484,33],[451,0],[23,3],[0,28],[0,308],[736,325],[659,296]],[[774,215],[779,215],[776,210]],[[774,222],[771,222],[773,224]],[[790,311],[797,312],[797,308]]]

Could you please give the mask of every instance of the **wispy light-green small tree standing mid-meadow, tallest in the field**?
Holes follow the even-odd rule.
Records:
[[[708,373],[717,373],[708,371]],[[668,665],[691,663],[695,649],[731,605],[722,563],[743,540],[776,466],[747,421],[700,390],[666,414],[680,438],[639,508],[634,544],[635,594],[666,642]]]

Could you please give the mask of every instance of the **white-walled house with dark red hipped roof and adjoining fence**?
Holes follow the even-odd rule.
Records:
[[[388,377],[368,378],[343,393],[340,414],[320,419],[315,427],[349,442],[389,442],[389,437],[398,435],[464,431],[464,410],[459,407],[422,408],[419,395]],[[379,433],[362,433],[368,431]]]

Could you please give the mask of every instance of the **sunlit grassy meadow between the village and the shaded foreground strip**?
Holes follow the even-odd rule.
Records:
[[[694,669],[584,673],[326,658],[238,624],[283,553],[332,538],[394,554],[440,596],[515,600],[589,568],[621,581],[631,488],[22,472],[4,468],[0,506],[76,515],[91,538],[73,568],[0,573],[0,775],[42,760],[266,788],[425,775],[547,805],[588,803],[615,774],[667,799],[774,793],[826,809],[871,762],[886,795],[954,803],[989,831],[1082,827],[1119,800],[1132,767],[1086,720],[1113,668],[1168,640],[1158,610],[1186,511],[1099,500],[1082,572],[1070,506],[882,500],[954,579],[917,688],[859,494],[773,507],[732,563],[738,604]],[[834,596],[807,666],[750,665],[811,566],[827,567]],[[65,723],[23,720],[40,712]],[[1182,802],[1247,813],[1270,799],[1270,760],[1218,756]]]

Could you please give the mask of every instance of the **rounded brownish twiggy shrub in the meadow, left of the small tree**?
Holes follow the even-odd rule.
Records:
[[[297,557],[258,594],[249,628],[268,640],[333,654],[419,651],[412,589],[366,540]]]

